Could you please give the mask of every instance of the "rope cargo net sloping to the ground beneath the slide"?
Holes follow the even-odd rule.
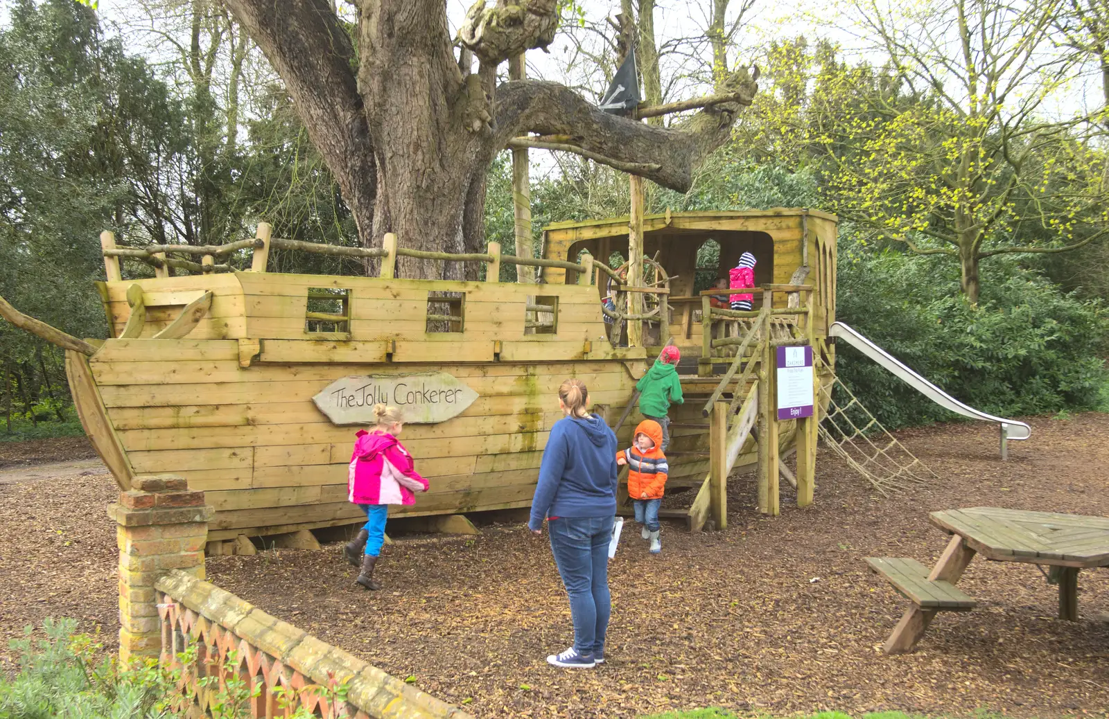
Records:
[[[833,396],[841,401],[836,402]],[[862,474],[884,496],[905,487],[938,479],[905,445],[882,427],[882,423],[858,401],[840,378],[821,384],[827,415],[817,425],[821,439],[843,458],[851,469]]]

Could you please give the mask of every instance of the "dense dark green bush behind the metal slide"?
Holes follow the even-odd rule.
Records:
[[[978,307],[949,263],[841,233],[837,319],[956,399],[1000,417],[1106,405],[1109,315],[1011,258],[984,266]],[[836,370],[887,428],[956,419],[841,343]]]

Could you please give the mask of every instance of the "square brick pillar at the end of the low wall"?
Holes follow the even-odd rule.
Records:
[[[120,660],[159,656],[161,622],[154,581],[167,569],[204,578],[204,544],[213,515],[203,492],[191,492],[171,474],[135,477],[134,489],[120,492],[108,515],[119,525]]]

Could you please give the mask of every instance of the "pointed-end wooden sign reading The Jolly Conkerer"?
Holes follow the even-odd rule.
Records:
[[[352,374],[312,398],[333,424],[373,424],[374,404],[400,409],[405,422],[435,424],[461,413],[478,393],[446,372],[406,377]]]

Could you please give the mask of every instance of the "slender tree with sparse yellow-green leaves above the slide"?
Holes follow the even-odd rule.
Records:
[[[837,212],[913,251],[957,258],[971,302],[983,259],[1068,251],[1109,232],[1091,119],[1048,112],[1074,70],[1048,39],[1064,1],[927,0],[903,10],[855,0],[865,38],[889,58],[888,85],[901,90],[858,92],[868,70],[822,78],[815,114],[831,120],[816,123],[826,129],[816,140],[838,171]],[[898,93],[915,100],[898,103]],[[856,114],[843,117],[851,103]]]

